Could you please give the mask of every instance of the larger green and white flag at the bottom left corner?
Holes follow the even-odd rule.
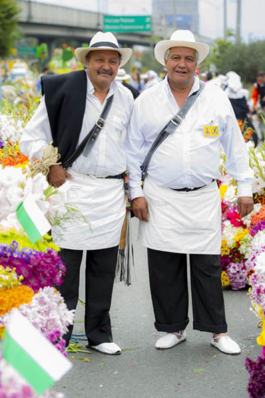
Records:
[[[71,362],[17,310],[1,342],[3,358],[38,393],[43,394],[69,371]]]

